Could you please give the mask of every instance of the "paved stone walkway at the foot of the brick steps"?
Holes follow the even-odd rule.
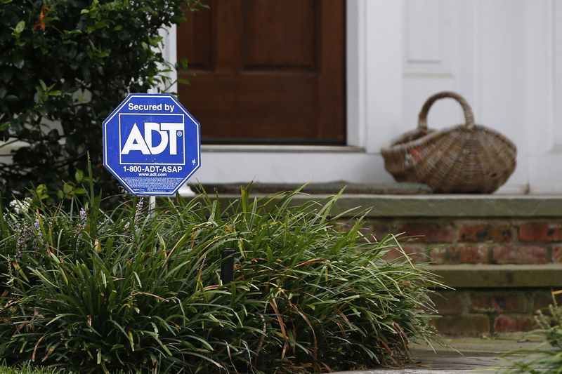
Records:
[[[514,349],[533,349],[544,338],[530,334],[510,334],[496,338],[444,338],[449,347],[417,345],[412,363],[401,368],[355,370],[335,374],[429,374],[429,373],[497,373],[506,361],[497,359]],[[549,346],[544,346],[547,348]]]

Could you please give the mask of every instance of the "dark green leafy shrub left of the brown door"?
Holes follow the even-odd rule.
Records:
[[[101,123],[129,92],[168,86],[174,67],[158,30],[199,0],[0,0],[0,140],[22,142],[0,163],[0,192],[20,197],[86,170],[117,192],[101,168]],[[1,146],[0,146],[1,148]],[[5,148],[4,148],[5,149]],[[1,152],[6,153],[6,152]]]

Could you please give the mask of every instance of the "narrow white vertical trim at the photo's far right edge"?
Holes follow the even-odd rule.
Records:
[[[562,2],[528,1],[531,193],[562,193]]]

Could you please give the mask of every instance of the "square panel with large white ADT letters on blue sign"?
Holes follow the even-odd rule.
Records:
[[[181,114],[119,114],[122,164],[185,165],[185,123]]]

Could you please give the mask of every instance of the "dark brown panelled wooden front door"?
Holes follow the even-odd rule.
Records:
[[[178,27],[202,141],[346,141],[344,0],[211,0]]]

